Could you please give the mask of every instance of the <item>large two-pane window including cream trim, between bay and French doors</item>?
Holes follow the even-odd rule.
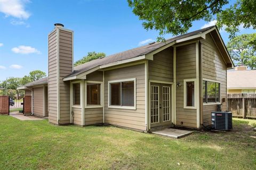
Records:
[[[109,81],[109,107],[135,109],[135,79]]]

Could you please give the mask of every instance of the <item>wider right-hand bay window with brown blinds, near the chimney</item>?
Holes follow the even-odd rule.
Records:
[[[100,83],[87,83],[87,105],[100,105]]]

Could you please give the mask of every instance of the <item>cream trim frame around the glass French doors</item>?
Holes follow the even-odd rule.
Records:
[[[171,123],[174,124],[176,121],[176,113],[174,113],[174,88],[175,88],[175,84],[172,81],[161,81],[161,80],[153,80],[153,79],[149,79],[149,83],[148,83],[148,126],[149,126],[149,130],[151,129],[151,121],[150,121],[150,93],[151,93],[151,83],[161,83],[161,84],[170,84],[171,85]]]

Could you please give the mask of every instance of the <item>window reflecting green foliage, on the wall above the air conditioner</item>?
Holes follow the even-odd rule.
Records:
[[[203,102],[220,103],[220,83],[203,81]]]

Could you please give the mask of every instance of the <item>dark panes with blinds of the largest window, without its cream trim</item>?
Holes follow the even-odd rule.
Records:
[[[110,83],[111,106],[134,106],[134,81]]]

